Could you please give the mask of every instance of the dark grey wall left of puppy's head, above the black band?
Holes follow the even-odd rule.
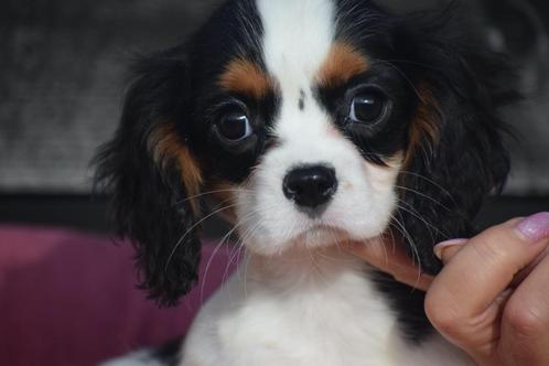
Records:
[[[136,53],[182,42],[213,1],[0,3],[0,191],[85,193]]]

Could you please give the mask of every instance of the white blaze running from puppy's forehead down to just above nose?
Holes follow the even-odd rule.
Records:
[[[290,165],[330,161],[319,154],[330,116],[311,94],[311,86],[327,58],[335,36],[332,0],[257,0],[263,25],[263,57],[281,92],[276,134],[290,143]],[[304,108],[300,108],[300,99]],[[303,109],[303,110],[301,110]]]

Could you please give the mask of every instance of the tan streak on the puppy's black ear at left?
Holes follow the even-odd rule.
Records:
[[[202,170],[173,127],[168,125],[158,127],[149,139],[149,151],[154,162],[162,169],[166,168],[169,161],[176,162],[189,197],[200,194],[203,182]],[[192,209],[197,212],[197,200],[190,200],[190,204]]]

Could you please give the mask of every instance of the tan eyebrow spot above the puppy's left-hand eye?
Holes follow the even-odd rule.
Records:
[[[225,67],[218,84],[226,90],[250,95],[256,99],[274,88],[271,77],[259,65],[241,58],[234,60]]]

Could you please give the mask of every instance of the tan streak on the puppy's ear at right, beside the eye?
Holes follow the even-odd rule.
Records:
[[[405,153],[405,166],[409,166],[418,150],[424,149],[422,144],[427,143],[428,149],[434,148],[439,141],[438,126],[443,119],[432,90],[427,85],[420,85],[418,92],[421,100],[408,131],[409,144]]]

